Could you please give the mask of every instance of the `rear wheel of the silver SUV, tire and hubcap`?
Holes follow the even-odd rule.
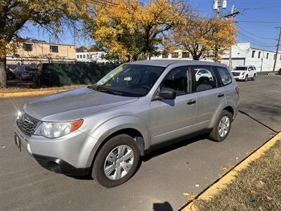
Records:
[[[229,120],[229,126],[227,131],[224,130],[224,132],[226,132],[225,134],[223,134],[223,136],[220,134],[220,123],[223,120]],[[226,137],[228,136],[230,129],[231,129],[231,122],[233,119],[233,114],[228,112],[227,110],[223,110],[221,112],[221,114],[218,116],[218,120],[216,121],[216,124],[214,125],[214,128],[212,129],[211,133],[209,134],[209,138],[213,141],[223,141],[226,139]],[[226,128],[226,127],[225,127]]]

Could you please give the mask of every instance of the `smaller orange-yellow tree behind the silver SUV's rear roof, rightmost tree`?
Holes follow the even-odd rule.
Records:
[[[194,60],[208,57],[219,62],[221,55],[235,44],[236,32],[230,20],[192,16],[174,31],[174,39]]]

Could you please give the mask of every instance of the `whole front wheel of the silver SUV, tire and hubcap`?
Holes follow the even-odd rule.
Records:
[[[122,148],[126,148],[122,158],[130,158],[131,156],[128,156],[131,155],[130,152],[133,152],[133,159],[130,158],[125,161],[122,159],[120,160],[119,155],[122,155],[122,153],[119,153],[119,149]],[[116,157],[113,156],[112,153],[113,155],[116,155]],[[93,179],[96,179],[100,185],[107,188],[119,186],[129,180],[133,176],[134,172],[136,172],[139,159],[140,151],[138,150],[136,141],[131,136],[126,134],[115,136],[108,140],[103,147],[100,148],[100,151],[96,156],[96,160],[93,163],[91,176]],[[115,161],[113,162],[113,160]],[[130,166],[131,168],[129,169]],[[108,171],[110,173],[107,175],[105,174],[106,167],[107,170],[111,170]],[[125,170],[125,167],[128,171]],[[119,169],[119,171],[117,171],[117,169]],[[119,174],[117,174],[117,172],[119,172]],[[122,174],[124,175],[122,176]],[[119,178],[117,175],[119,175]]]

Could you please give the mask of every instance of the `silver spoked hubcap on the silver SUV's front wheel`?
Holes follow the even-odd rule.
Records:
[[[117,180],[124,177],[133,165],[133,150],[127,145],[115,147],[105,158],[104,172],[108,179]]]

